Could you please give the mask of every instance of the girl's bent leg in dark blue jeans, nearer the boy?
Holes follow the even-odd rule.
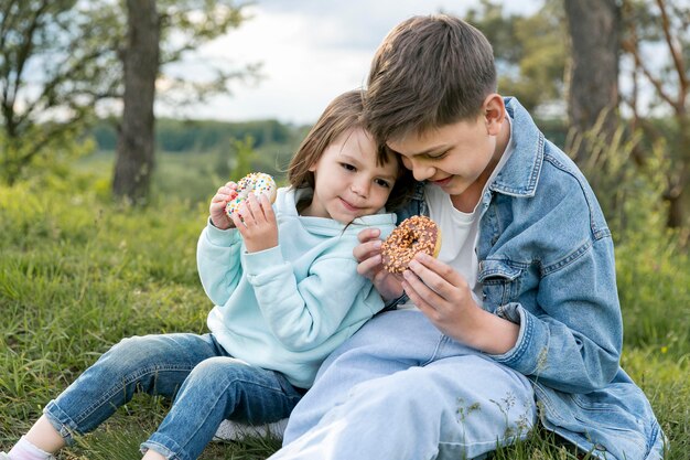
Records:
[[[301,394],[281,375],[233,357],[197,365],[142,450],[197,458],[225,419],[263,424],[287,417]]]

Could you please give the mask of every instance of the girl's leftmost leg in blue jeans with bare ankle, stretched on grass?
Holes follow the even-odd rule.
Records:
[[[86,370],[29,430],[25,439],[48,453],[91,431],[134,393],[173,397],[198,362],[223,353],[207,335],[125,339]]]

